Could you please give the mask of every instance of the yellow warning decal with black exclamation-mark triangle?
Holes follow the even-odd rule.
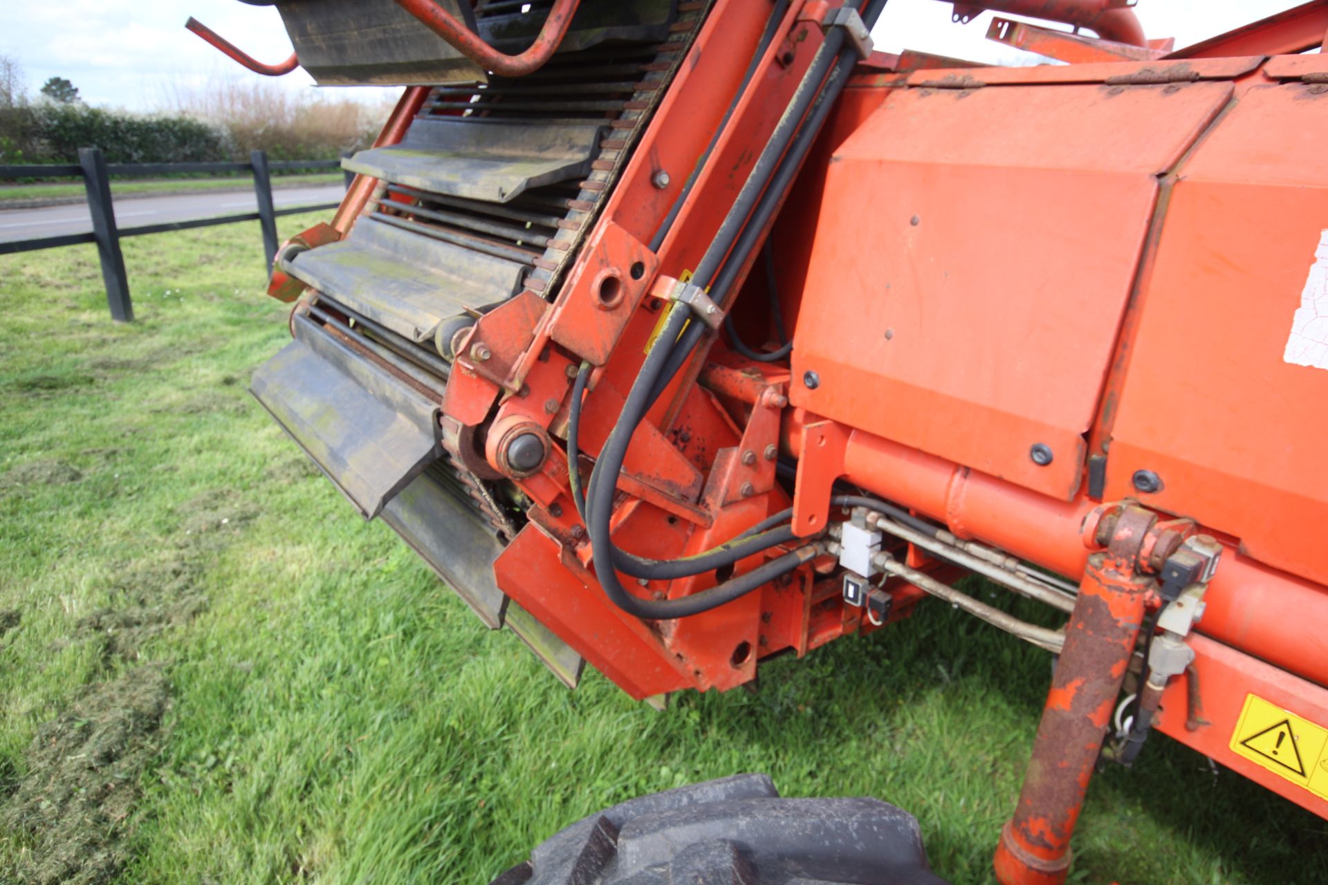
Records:
[[[1328,799],[1328,728],[1251,694],[1231,732],[1231,750]]]

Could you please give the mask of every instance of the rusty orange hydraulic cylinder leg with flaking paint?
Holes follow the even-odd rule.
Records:
[[[1019,805],[996,848],[1001,885],[1065,881],[1070,836],[1154,585],[1142,551],[1158,543],[1157,517],[1123,504],[1102,524],[1110,527],[1098,536],[1106,549],[1090,556],[1084,571]]]

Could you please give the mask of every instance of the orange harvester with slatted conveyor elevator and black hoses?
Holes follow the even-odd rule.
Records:
[[[1151,730],[1328,817],[1328,3],[955,4],[1074,25],[997,19],[1028,68],[882,0],[276,5],[290,65],[194,29],[408,88],[254,393],[487,626],[633,698],[926,596],[1045,647],[1005,884]]]

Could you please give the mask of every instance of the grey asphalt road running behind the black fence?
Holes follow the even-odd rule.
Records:
[[[276,208],[336,203],[345,194],[340,184],[291,187],[272,191]],[[254,194],[228,191],[212,194],[177,194],[175,196],[125,196],[114,200],[116,223],[124,230],[139,224],[181,222],[235,212],[255,212]],[[49,206],[46,208],[0,210],[0,243],[39,236],[81,234],[92,230],[86,206]]]

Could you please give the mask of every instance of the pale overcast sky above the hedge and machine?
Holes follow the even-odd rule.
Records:
[[[1138,0],[1137,12],[1149,37],[1175,37],[1182,46],[1299,1]],[[872,34],[876,46],[1005,64],[1024,54],[985,40],[989,13],[956,25],[950,8],[938,0],[890,0]],[[29,93],[48,77],[66,77],[89,103],[145,111],[161,107],[173,86],[258,77],[185,31],[190,15],[260,61],[291,53],[276,11],[238,0],[0,0],[0,54],[19,61]],[[312,88],[303,70],[282,82]]]

